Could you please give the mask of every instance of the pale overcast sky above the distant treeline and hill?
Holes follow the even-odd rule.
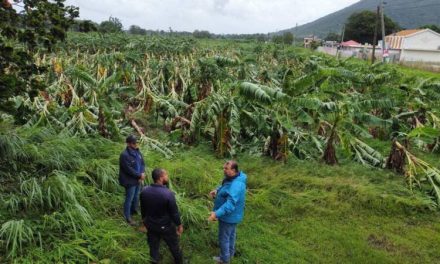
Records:
[[[95,22],[110,16],[125,29],[212,33],[268,33],[292,28],[333,13],[359,0],[67,0],[81,19]]]

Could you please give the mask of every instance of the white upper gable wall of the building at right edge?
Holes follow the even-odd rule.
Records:
[[[404,38],[402,49],[440,50],[440,35],[423,31]]]

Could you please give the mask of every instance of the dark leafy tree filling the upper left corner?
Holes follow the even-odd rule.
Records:
[[[78,16],[78,8],[65,6],[64,0],[3,0],[0,6],[0,110],[12,112],[8,99],[28,93],[30,97],[43,89],[39,77],[43,65],[34,54],[52,50],[66,38],[66,31]],[[16,10],[20,4],[23,11]]]

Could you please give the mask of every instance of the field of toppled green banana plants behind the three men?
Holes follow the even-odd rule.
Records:
[[[339,149],[366,166],[405,173],[411,187],[426,180],[440,201],[439,171],[408,152],[439,151],[439,79],[280,46],[235,45],[75,35],[40,58],[53,68],[44,76],[47,91],[33,101],[16,98],[17,105],[28,124],[74,134],[117,138],[131,126],[166,156],[171,151],[144,133],[149,117],[182,143],[210,140],[221,157],[246,151],[336,164]],[[389,141],[389,159],[368,145],[371,138]]]

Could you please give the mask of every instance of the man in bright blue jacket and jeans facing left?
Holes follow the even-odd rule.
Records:
[[[235,253],[236,227],[243,220],[246,198],[247,176],[238,170],[235,161],[223,166],[225,177],[222,185],[210,192],[214,198],[214,210],[208,220],[219,221],[218,240],[220,256],[214,257],[217,263],[229,263]]]

